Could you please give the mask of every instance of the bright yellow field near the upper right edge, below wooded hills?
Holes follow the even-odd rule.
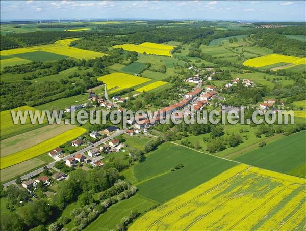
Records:
[[[245,66],[251,67],[263,67],[276,63],[288,63],[288,64],[306,64],[306,58],[299,58],[294,56],[287,56],[281,54],[269,54],[262,57],[256,57],[253,59],[249,59],[243,63]]]

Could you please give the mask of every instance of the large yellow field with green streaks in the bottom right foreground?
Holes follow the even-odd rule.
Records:
[[[238,165],[144,214],[129,230],[301,230],[305,180]]]

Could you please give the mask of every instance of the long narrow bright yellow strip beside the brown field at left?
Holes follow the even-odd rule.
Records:
[[[69,140],[77,138],[78,136],[82,135],[84,132],[86,132],[86,129],[81,127],[74,127],[68,131],[61,133],[60,135],[47,139],[31,148],[24,149],[22,151],[13,153],[5,157],[1,157],[0,169],[4,169],[14,164],[18,164],[25,160],[30,160],[34,157],[37,157],[43,153],[46,153],[52,149],[57,148],[58,146],[62,145],[63,143]]]

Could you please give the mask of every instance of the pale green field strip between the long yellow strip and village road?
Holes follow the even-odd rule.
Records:
[[[11,180],[16,177],[16,175],[21,175],[24,172],[27,172],[28,170],[40,167],[44,164],[46,164],[46,162],[38,158],[33,158],[31,160],[26,160],[22,163],[7,167],[5,169],[0,170],[0,181],[4,182],[7,180]]]

